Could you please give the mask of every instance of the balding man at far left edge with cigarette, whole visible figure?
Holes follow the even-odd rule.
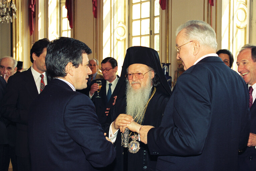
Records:
[[[0,72],[6,82],[8,81],[9,77],[16,72],[17,70],[16,65],[17,65],[17,61],[10,56],[5,56],[0,59]],[[5,89],[4,89],[4,94],[5,94]],[[4,94],[2,94],[2,97]],[[1,99],[1,100],[5,101],[5,99]],[[4,158],[3,167],[6,167],[5,170],[7,171],[9,167],[10,159],[11,159],[12,169],[13,171],[16,171],[17,170],[17,158],[15,155],[16,123],[5,120],[5,124],[7,128],[7,134],[8,134],[8,144],[4,146],[5,154],[3,155],[3,158]]]

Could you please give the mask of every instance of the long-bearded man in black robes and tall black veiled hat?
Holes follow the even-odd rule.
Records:
[[[117,90],[119,93],[113,109],[114,113],[110,115],[114,117],[114,122],[109,129],[109,138],[115,142],[117,151],[116,161],[111,170],[155,170],[157,156],[149,154],[147,145],[139,141],[138,134],[129,133],[127,152],[127,148],[121,146],[120,131],[123,131],[126,124],[133,120],[139,124],[152,124],[155,127],[161,123],[171,90],[161,68],[157,51],[142,46],[128,48]],[[126,153],[123,155],[124,150]]]

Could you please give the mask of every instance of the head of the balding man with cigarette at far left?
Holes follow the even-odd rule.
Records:
[[[6,82],[8,78],[16,72],[16,66],[17,61],[10,56],[5,56],[0,59],[0,72]]]

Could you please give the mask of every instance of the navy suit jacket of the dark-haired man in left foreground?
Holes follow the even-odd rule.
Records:
[[[59,79],[51,80],[32,103],[28,138],[35,171],[94,170],[115,158],[89,97]]]

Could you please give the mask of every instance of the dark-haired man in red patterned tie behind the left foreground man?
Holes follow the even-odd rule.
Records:
[[[15,122],[18,170],[31,170],[27,137],[27,114],[31,102],[46,85],[45,56],[49,40],[44,38],[35,42],[30,50],[30,60],[33,65],[26,71],[15,74],[8,79],[1,114],[6,119]]]

